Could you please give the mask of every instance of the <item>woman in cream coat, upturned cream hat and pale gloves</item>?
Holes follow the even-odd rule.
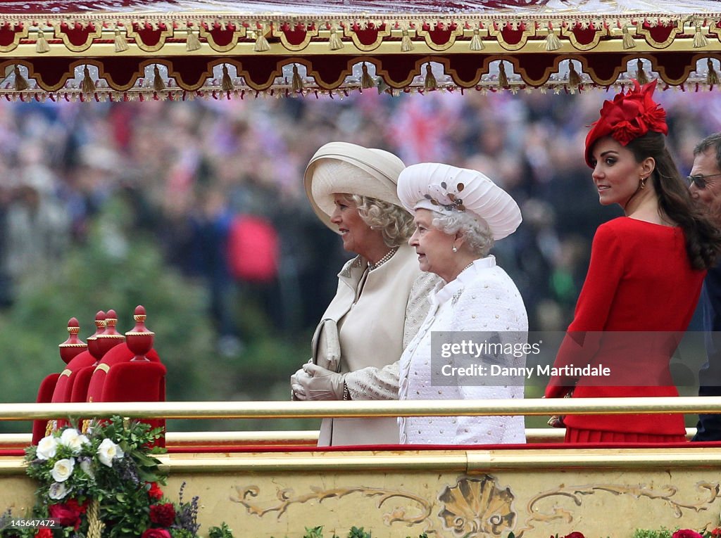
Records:
[[[311,361],[291,377],[294,400],[398,398],[398,358],[428,311],[435,279],[407,245],[412,216],[396,186],[403,162],[392,153],[332,142],[305,174],[318,217],[358,256],[338,274],[338,290],[311,343]],[[397,444],[395,418],[326,419],[319,446]]]

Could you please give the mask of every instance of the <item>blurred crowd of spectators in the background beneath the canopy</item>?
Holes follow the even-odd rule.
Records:
[[[131,218],[107,235],[107,248],[130,248],[134,233],[154,237],[169,264],[207,286],[221,351],[242,349],[244,305],[265,312],[274,330],[306,331],[348,255],[311,211],[303,171],[319,146],[345,140],[407,164],[478,169],[508,190],[524,220],[494,254],[523,295],[531,331],[563,330],[593,232],[620,214],[598,204],[583,161],[588,125],[612,94],[366,90],[343,99],[2,104],[0,306],[12,305],[25,274],[87,241],[89,223],[122,197]],[[657,95],[686,175],[694,144],[721,130],[721,103],[715,91]],[[278,249],[277,264],[251,279],[234,269],[229,248],[247,216],[277,234],[250,248]]]

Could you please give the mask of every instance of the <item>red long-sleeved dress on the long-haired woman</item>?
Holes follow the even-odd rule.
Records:
[[[554,375],[547,398],[677,396],[669,362],[706,272],[693,269],[681,228],[620,217],[598,227],[575,315],[554,367],[603,365],[608,377]],[[567,441],[676,441],[684,417],[572,415]]]

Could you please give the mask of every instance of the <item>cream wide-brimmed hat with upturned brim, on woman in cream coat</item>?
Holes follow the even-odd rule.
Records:
[[[330,222],[335,210],[333,194],[360,194],[402,207],[397,183],[404,168],[403,161],[388,151],[329,142],[311,158],[303,181],[316,215],[337,232],[337,226]]]

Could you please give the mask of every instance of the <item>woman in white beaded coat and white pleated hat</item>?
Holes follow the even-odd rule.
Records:
[[[420,269],[443,279],[430,296],[428,317],[400,359],[399,398],[523,398],[523,375],[500,368],[519,372],[525,366],[526,308],[516,285],[489,254],[494,241],[521,224],[518,205],[480,172],[439,163],[402,171],[398,195],[415,213],[410,245]],[[466,353],[462,344],[471,340],[485,349]],[[398,422],[400,441],[408,444],[525,442],[523,416]]]

